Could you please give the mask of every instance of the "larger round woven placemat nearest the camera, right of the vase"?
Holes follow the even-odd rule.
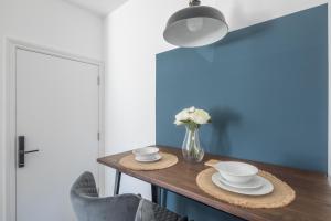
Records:
[[[231,204],[255,209],[280,208],[288,206],[296,198],[296,192],[290,186],[266,171],[260,170],[258,175],[268,179],[274,185],[274,191],[269,194],[258,197],[233,193],[218,188],[212,181],[212,175],[215,172],[214,168],[203,170],[197,175],[196,183],[207,194]]]

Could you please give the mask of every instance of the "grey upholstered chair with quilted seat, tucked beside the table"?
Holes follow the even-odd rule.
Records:
[[[94,177],[84,172],[71,189],[78,221],[185,221],[185,218],[136,194],[99,198]]]

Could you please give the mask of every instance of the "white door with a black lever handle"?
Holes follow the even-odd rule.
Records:
[[[17,221],[75,220],[72,183],[98,178],[98,66],[17,49],[15,67],[17,136],[39,150],[17,168]]]

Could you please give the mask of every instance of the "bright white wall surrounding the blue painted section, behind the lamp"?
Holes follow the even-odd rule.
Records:
[[[172,49],[162,38],[168,18],[186,6],[179,0],[129,0],[105,22],[106,151],[156,143],[156,54]],[[204,0],[225,14],[231,31],[311,8],[327,0]],[[111,191],[114,171],[106,187]],[[150,196],[150,187],[124,177],[120,192]]]

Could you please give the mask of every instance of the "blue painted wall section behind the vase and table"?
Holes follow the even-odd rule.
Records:
[[[328,6],[229,33],[200,49],[157,55],[157,143],[181,146],[174,115],[207,109],[207,152],[327,172]],[[195,221],[234,220],[197,202],[168,196]]]

